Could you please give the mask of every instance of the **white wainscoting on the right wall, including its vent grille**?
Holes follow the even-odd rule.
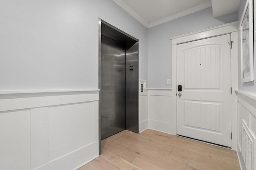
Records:
[[[236,90],[238,100],[238,158],[242,170],[256,169],[256,95]]]

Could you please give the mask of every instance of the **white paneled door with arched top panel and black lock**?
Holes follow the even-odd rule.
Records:
[[[231,147],[230,34],[177,45],[177,134]]]

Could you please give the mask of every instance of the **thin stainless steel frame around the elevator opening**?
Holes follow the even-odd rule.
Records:
[[[137,43],[138,43],[138,63],[137,63],[138,64],[138,83],[137,83],[137,88],[138,88],[139,87],[139,40],[99,18],[98,19],[98,44],[99,44],[99,49],[98,49],[99,50],[98,51],[98,54],[99,54],[99,56],[98,56],[98,87],[99,87],[99,89],[101,88],[101,35],[102,35],[101,25],[102,25],[102,23],[104,23],[105,25],[108,25],[112,29],[115,29],[119,33],[122,33],[123,35],[137,41]],[[100,100],[100,97],[101,96],[100,96],[100,92],[99,92],[99,110],[98,110],[98,112],[99,112],[99,114],[98,114],[99,155],[101,154],[101,100]],[[137,122],[138,123],[138,132],[137,133],[139,133],[139,92],[138,92],[137,98],[138,98],[138,122]]]

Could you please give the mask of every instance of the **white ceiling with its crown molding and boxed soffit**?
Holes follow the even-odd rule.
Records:
[[[146,27],[213,8],[214,17],[238,11],[240,0],[113,0]]]

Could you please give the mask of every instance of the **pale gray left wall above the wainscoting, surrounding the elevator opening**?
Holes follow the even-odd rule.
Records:
[[[140,40],[147,28],[112,0],[1,0],[0,90],[98,88],[98,18]]]

